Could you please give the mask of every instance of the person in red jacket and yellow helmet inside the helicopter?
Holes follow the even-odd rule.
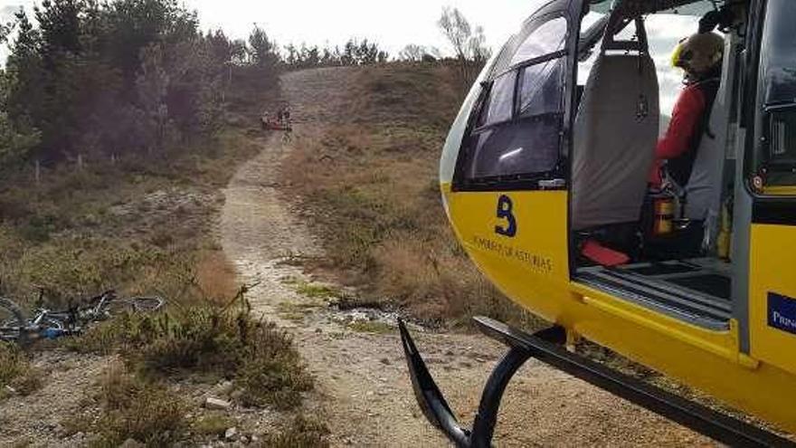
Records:
[[[675,49],[672,65],[685,71],[685,88],[655,148],[656,162],[649,176],[653,187],[661,186],[664,161],[668,176],[680,187],[687,185],[696,151],[709,132],[707,122],[721,80],[723,52],[724,39],[716,33],[696,33]]]

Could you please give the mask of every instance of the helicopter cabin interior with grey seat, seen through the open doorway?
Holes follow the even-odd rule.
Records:
[[[699,17],[715,6],[692,3],[686,14],[699,15],[676,23],[687,33],[696,33]],[[696,157],[678,180],[654,160],[668,130],[662,98],[679,90],[659,82],[656,68],[668,62],[672,48],[653,48],[647,28],[672,20],[661,14],[679,11],[592,10],[583,17],[578,44],[570,157],[573,280],[708,329],[728,328],[733,279],[741,278],[733,274],[731,221],[745,17],[743,7],[734,11],[731,23],[715,24],[725,40],[719,87]],[[664,74],[669,80],[676,75]],[[660,185],[650,184],[650,167],[664,170]]]

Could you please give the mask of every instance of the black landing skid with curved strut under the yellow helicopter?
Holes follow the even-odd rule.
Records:
[[[616,396],[621,396],[636,405],[687,426],[697,433],[705,434],[717,442],[744,447],[796,447],[796,443],[777,434],[763,431],[756,426],[720,414],[706,406],[671,394],[659,387],[650,386],[580,355],[570,353],[563,347],[565,331],[561,327],[553,327],[529,335],[497,320],[475,318],[475,321],[479,329],[488,337],[498,339],[506,344],[508,351],[492,371],[486,386],[484,386],[479,411],[473,421],[472,430],[459,424],[445,401],[445,397],[442,396],[440,388],[431,377],[428,367],[414,345],[409,330],[406,329],[403,320],[398,321],[403,352],[409,365],[409,375],[418,404],[431,424],[440,428],[457,446],[476,448],[491,446],[503,392],[516,370],[529,358],[535,357],[573,377],[578,377]]]

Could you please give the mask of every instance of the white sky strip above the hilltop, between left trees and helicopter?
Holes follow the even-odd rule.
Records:
[[[544,0],[186,0],[204,27],[221,27],[236,37],[259,24],[279,43],[345,43],[368,38],[391,53],[407,43],[445,49],[437,29],[443,6],[450,5],[484,26],[488,43],[498,46]]]

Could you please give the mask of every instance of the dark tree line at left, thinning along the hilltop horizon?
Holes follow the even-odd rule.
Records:
[[[0,24],[0,43],[10,41],[0,70],[0,167],[191,148],[223,126],[233,72],[250,71],[267,89],[283,70],[390,59],[367,39],[280,48],[258,26],[245,40],[203,33],[178,0],[43,0],[33,19],[20,9]],[[438,25],[469,81],[488,57],[483,30],[450,8]],[[443,58],[410,45],[398,59]]]

